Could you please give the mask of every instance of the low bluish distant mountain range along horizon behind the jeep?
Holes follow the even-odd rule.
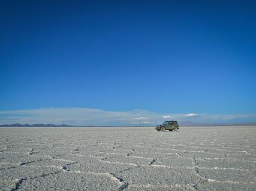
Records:
[[[193,124],[190,121],[184,121],[179,123],[180,126],[194,126],[194,127],[202,127],[202,126],[256,126],[256,122],[247,122],[247,123],[233,123],[233,124]],[[0,125],[0,127],[149,127],[150,125],[128,125],[128,126],[96,126],[96,125],[55,125],[55,124],[4,124]]]

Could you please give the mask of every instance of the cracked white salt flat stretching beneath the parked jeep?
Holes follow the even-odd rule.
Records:
[[[0,190],[256,190],[256,127],[0,128]]]

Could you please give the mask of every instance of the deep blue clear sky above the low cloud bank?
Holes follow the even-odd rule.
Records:
[[[1,1],[0,24],[0,124],[49,108],[71,121],[34,122],[256,121],[256,1]]]

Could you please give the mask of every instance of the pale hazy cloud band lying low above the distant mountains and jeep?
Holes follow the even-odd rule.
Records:
[[[68,125],[156,125],[163,121],[180,124],[234,124],[255,122],[256,115],[209,115],[198,113],[156,113],[148,110],[113,112],[90,108],[46,108],[0,111],[0,124]]]

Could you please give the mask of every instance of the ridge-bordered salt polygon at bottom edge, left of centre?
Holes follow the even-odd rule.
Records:
[[[25,180],[19,190],[112,190],[121,186],[111,174],[61,172]]]

